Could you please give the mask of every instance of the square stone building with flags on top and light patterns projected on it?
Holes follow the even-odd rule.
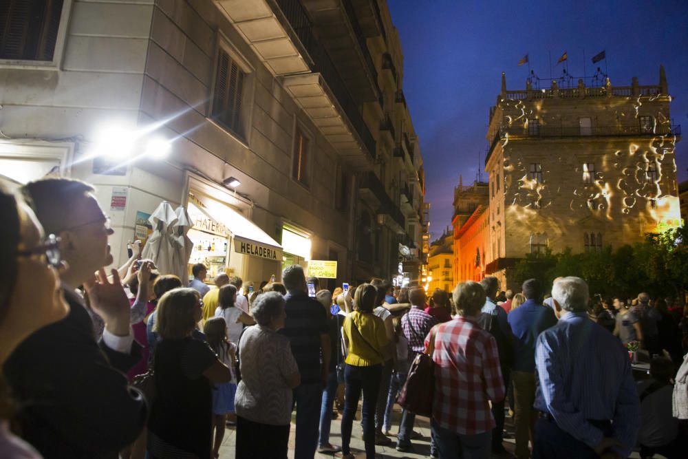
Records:
[[[659,84],[502,92],[490,110],[486,274],[510,287],[526,253],[618,247],[680,224],[664,68]],[[506,283],[505,283],[506,282]]]

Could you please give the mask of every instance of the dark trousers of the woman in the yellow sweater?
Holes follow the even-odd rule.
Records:
[[[371,367],[354,367],[348,363],[344,367],[344,414],[342,415],[342,453],[350,453],[351,430],[354,415],[358,409],[358,399],[363,391],[363,407],[361,407],[361,426],[363,427],[363,441],[365,442],[365,457],[375,458],[375,409],[380,390],[382,365]]]

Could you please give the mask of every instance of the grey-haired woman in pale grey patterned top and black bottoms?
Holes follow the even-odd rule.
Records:
[[[277,333],[287,317],[279,292],[258,295],[253,303],[257,325],[239,339],[237,459],[285,458],[292,413],[292,389],[301,383],[289,339]]]

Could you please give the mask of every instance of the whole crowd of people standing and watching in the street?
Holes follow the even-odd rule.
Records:
[[[0,213],[3,458],[210,459],[232,426],[237,458],[283,459],[294,410],[294,458],[353,458],[357,412],[367,458],[415,451],[416,413],[402,409],[396,444],[392,415],[423,354],[431,457],[510,456],[507,412],[519,459],[685,457],[682,298],[591,297],[578,277],[520,292],[486,277],[451,297],[385,279],[330,291],[299,265],[211,288],[197,264],[184,286],[136,243],[106,273],[113,231],[83,182],[1,191]]]

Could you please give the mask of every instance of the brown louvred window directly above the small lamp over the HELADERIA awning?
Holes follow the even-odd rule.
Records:
[[[246,74],[222,47],[217,56],[213,119],[241,138],[244,132],[244,78]]]

